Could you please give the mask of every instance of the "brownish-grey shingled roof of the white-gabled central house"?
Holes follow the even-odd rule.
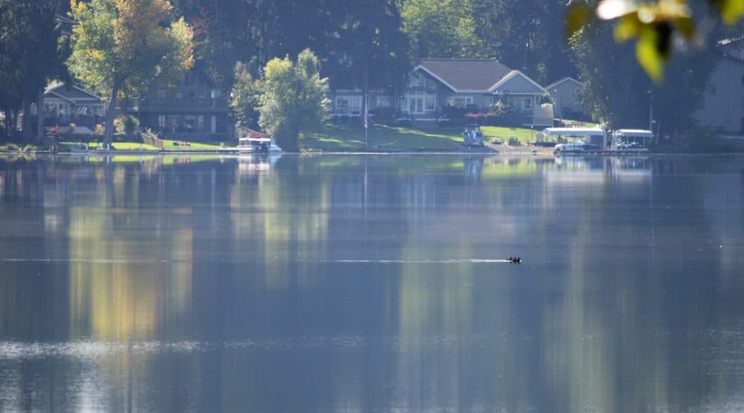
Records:
[[[487,91],[512,71],[493,59],[421,59],[419,64],[458,91]]]

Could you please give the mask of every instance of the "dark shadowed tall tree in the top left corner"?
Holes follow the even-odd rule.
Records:
[[[0,0],[0,111],[24,109],[23,132],[31,138],[31,103],[51,77],[64,77],[63,45],[54,19],[57,1]]]

